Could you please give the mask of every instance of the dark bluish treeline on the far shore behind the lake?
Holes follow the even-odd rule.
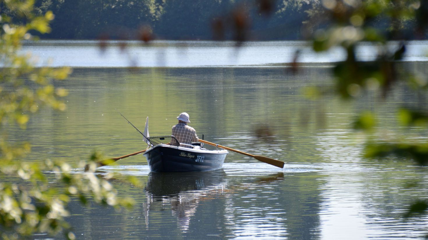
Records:
[[[36,0],[55,14],[52,39],[295,40],[309,1]]]

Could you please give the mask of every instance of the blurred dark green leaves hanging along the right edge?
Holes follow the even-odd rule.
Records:
[[[397,63],[406,52],[406,41],[424,38],[427,34],[427,0],[321,0],[309,11],[316,29],[312,35],[315,51],[342,49],[345,60],[333,67],[337,93],[352,99],[378,94],[387,98],[392,87],[406,86],[415,94],[426,95],[427,76],[411,71],[399,75]],[[321,21],[322,19],[322,21]],[[316,21],[318,20],[318,21]],[[363,61],[356,49],[365,42],[376,46],[377,57]],[[402,72],[402,71],[400,71]],[[425,104],[396,109],[398,129],[423,126],[427,130],[428,112]],[[389,159],[390,156],[428,164],[428,143],[420,138],[402,135],[401,131],[383,134],[382,122],[371,111],[363,111],[354,121],[354,129],[367,133],[364,156],[369,159]],[[407,131],[408,133],[408,131]],[[422,213],[427,209],[425,200],[410,206],[404,217]]]

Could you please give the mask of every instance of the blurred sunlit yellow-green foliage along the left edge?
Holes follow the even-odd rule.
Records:
[[[72,198],[83,204],[88,199],[114,207],[131,207],[131,200],[118,199],[108,182],[93,173],[71,174],[65,162],[46,160],[44,164],[25,161],[29,143],[11,142],[13,126],[25,129],[32,114],[42,107],[65,110],[61,97],[67,90],[54,82],[67,78],[71,69],[33,67],[29,56],[18,54],[30,32],[50,32],[53,13],[33,14],[33,0],[0,0],[0,238],[23,239],[37,232],[57,234],[74,239],[65,220]],[[11,16],[20,21],[11,21]],[[101,157],[94,154],[92,161]],[[81,163],[80,165],[83,165]],[[92,168],[93,169],[93,168]],[[47,173],[55,173],[62,188],[49,188]],[[58,190],[59,189],[59,190]]]

